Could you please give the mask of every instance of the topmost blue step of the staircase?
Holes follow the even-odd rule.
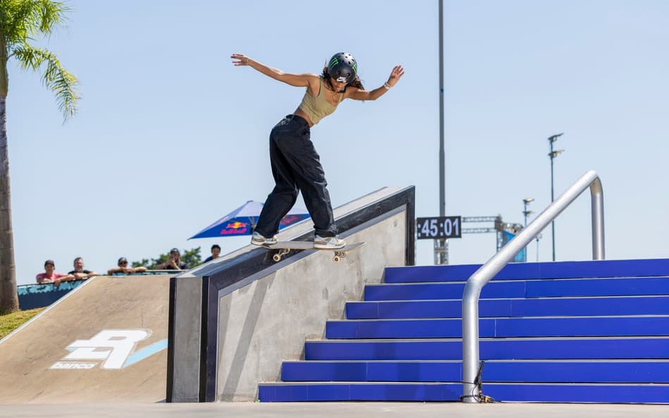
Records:
[[[385,283],[467,281],[481,264],[459,266],[399,266],[384,270]],[[669,259],[599,260],[508,264],[494,276],[499,279],[594,278],[668,276]]]

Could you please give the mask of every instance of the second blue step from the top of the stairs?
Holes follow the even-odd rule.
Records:
[[[365,285],[365,300],[461,299],[465,283]],[[669,295],[669,278],[585,278],[548,281],[497,281],[481,291],[483,299],[502,297]]]

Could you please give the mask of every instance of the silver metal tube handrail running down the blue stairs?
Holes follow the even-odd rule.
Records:
[[[475,271],[467,281],[462,297],[463,402],[477,402],[480,395],[480,387],[475,382],[480,381],[480,376],[477,376],[479,371],[478,302],[483,286],[587,188],[590,188],[592,200],[592,259],[603,260],[604,195],[599,176],[594,171],[588,171],[544,209],[527,228]]]

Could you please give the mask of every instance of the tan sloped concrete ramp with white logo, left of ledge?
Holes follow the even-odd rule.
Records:
[[[0,340],[0,403],[165,400],[170,276],[99,276]]]

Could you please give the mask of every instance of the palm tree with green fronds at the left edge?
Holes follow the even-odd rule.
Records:
[[[74,116],[79,99],[77,79],[50,51],[28,43],[37,36],[50,35],[68,11],[60,1],[0,0],[0,312],[18,309],[7,154],[7,62],[15,59],[26,70],[44,68],[42,80],[56,94],[58,109],[65,120]]]

